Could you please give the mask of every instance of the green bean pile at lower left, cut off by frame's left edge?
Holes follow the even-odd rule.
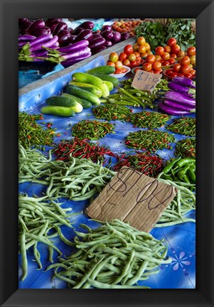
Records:
[[[58,254],[62,254],[60,249],[50,241],[51,238],[59,236],[65,244],[73,246],[73,243],[63,235],[60,226],[72,227],[73,223],[70,222],[70,218],[76,214],[68,213],[72,208],[61,208],[60,205],[62,203],[55,202],[53,198],[47,198],[47,196],[41,198],[21,194],[18,196],[18,244],[23,270],[22,281],[26,279],[28,274],[28,249],[33,248],[36,262],[42,269],[41,254],[37,248],[38,242],[42,242],[48,247],[49,262],[53,262],[54,250]],[[51,235],[50,230],[52,230]]]

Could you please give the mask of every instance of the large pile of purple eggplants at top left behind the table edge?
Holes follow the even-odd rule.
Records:
[[[62,18],[19,18],[18,60],[49,60],[68,66],[129,38],[129,33],[112,31],[111,26],[103,26],[101,31],[93,31],[94,27],[92,21],[73,29]]]

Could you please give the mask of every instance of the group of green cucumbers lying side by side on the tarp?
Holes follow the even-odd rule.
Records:
[[[41,108],[41,113],[73,117],[82,109],[100,105],[100,98],[108,97],[119,83],[110,75],[114,70],[114,67],[104,65],[86,72],[75,72],[62,95],[46,99],[47,105]]]

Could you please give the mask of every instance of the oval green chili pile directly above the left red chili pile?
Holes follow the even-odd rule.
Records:
[[[108,133],[115,133],[113,130],[114,124],[109,122],[82,120],[73,126],[72,134],[80,140],[97,140],[102,139]]]

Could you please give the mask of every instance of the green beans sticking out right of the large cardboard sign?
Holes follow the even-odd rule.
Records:
[[[161,176],[161,174],[159,174],[159,176]],[[191,210],[196,210],[196,195],[189,189],[193,185],[180,181],[173,182],[162,178],[157,179],[162,183],[173,185],[177,189],[177,194],[171,204],[164,210],[154,227],[167,227],[178,225],[183,222],[196,222],[196,220],[192,218],[185,217]]]

